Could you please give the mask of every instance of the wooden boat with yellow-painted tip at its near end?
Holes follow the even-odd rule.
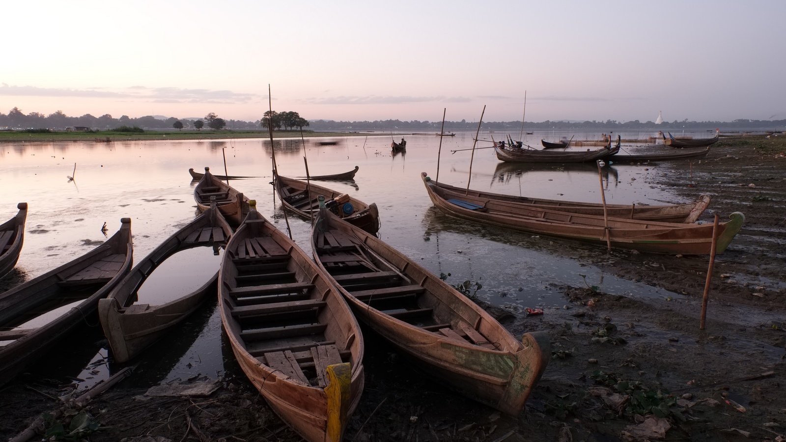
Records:
[[[311,257],[252,208],[227,245],[219,309],[270,407],[309,441],[339,441],[363,390],[363,337]]]

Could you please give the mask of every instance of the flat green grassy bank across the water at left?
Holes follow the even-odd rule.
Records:
[[[303,131],[304,137],[351,137],[366,135],[347,132]],[[269,138],[267,131],[52,131],[28,133],[24,131],[0,131],[0,142],[115,142],[135,140],[211,140],[226,138]],[[300,131],[274,131],[274,138],[299,138]]]

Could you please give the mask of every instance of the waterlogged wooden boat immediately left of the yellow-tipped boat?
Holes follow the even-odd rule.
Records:
[[[210,278],[193,274],[194,280],[204,281],[204,284],[189,293],[183,293],[177,299],[156,305],[136,302],[138,290],[148,277],[154,274],[156,268],[170,256],[185,249],[225,246],[231,236],[230,225],[213,204],[153,249],[112,289],[108,297],[98,301],[98,319],[101,320],[101,327],[109,342],[109,348],[112,348],[115,362],[124,363],[134,358],[160,339],[172,326],[193,313],[209,295],[215,296],[216,281],[219,278],[218,265]],[[215,250],[215,253],[217,254],[218,250]],[[194,270],[196,271],[198,270]],[[173,291],[180,293],[176,289]]]

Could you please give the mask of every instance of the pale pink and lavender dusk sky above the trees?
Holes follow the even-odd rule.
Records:
[[[0,112],[786,119],[786,2],[27,0]],[[525,100],[526,96],[526,100]],[[485,110],[484,110],[485,108]]]

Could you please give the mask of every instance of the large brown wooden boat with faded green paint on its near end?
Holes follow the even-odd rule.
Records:
[[[311,248],[371,330],[453,389],[520,413],[549,361],[546,333],[517,340],[468,297],[329,211],[314,223]]]

